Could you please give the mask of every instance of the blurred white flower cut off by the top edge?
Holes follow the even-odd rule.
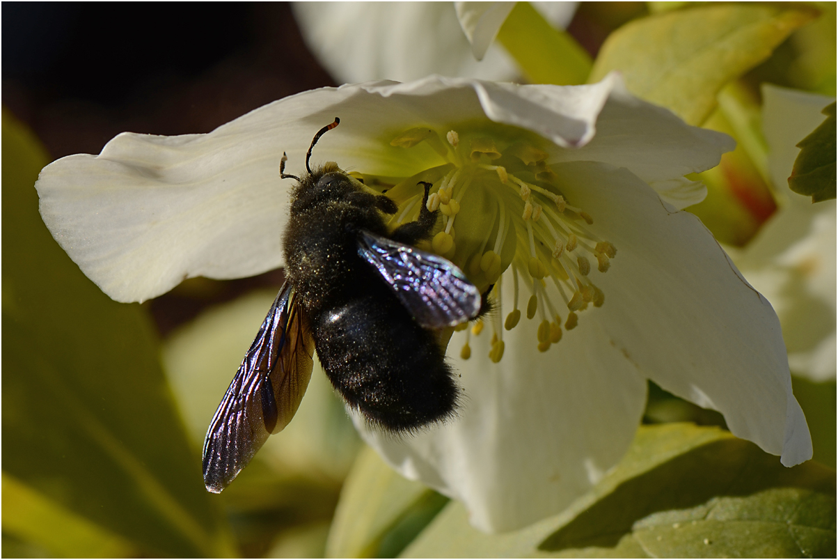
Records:
[[[566,28],[576,2],[536,2]],[[335,80],[417,80],[429,74],[513,80],[517,65],[492,44],[514,2],[297,2],[308,48]]]

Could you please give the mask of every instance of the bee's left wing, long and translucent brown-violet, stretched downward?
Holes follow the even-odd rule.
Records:
[[[312,375],[314,342],[285,283],[209,423],[204,484],[224,490],[262,443],[291,421]]]

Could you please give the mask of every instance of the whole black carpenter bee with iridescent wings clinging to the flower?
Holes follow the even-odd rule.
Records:
[[[411,433],[452,417],[460,397],[437,331],[486,304],[453,262],[416,248],[437,212],[425,189],[416,221],[389,231],[397,206],[372,194],[336,163],[306,154],[283,238],[286,283],[247,350],[204,439],[204,483],[220,492],[267,437],[285,428],[308,386],[313,350],[349,407],[374,428]],[[438,211],[438,210],[437,210]]]

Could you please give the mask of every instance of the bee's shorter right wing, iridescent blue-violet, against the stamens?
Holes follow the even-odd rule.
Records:
[[[477,287],[445,258],[369,231],[360,234],[358,254],[425,329],[453,327],[480,313]]]

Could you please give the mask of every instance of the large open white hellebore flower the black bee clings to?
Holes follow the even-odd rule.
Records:
[[[288,173],[303,174],[313,132],[335,116],[315,161],[387,189],[393,226],[415,219],[416,183],[431,182],[444,215],[432,248],[498,296],[484,334],[453,334],[466,395],[455,420],[403,439],[360,427],[401,473],[463,500],[484,531],[525,526],[618,462],[647,379],[722,412],[783,464],[810,458],[773,309],[679,211],[703,197],[684,175],[732,140],[635,99],[617,75],[382,81],[287,97],[209,134],[124,133],[46,167],[41,214],[118,301],[280,267],[293,181],[277,163],[287,151]]]

